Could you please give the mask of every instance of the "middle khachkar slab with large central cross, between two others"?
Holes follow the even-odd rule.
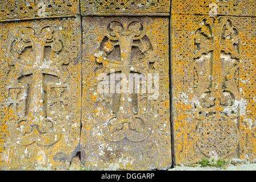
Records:
[[[168,29],[169,18],[83,17],[81,160],[86,167],[170,167]],[[136,75],[146,75],[155,92],[131,91]],[[132,85],[130,92],[111,92],[118,80],[122,89]],[[107,81],[108,91],[101,92]]]

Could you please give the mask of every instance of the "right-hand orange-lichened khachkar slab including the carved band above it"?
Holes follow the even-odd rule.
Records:
[[[175,164],[255,159],[255,1],[172,5]]]

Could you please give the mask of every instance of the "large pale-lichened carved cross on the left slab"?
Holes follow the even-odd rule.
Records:
[[[56,127],[57,122],[47,117],[44,98],[44,76],[46,74],[58,76],[60,72],[58,65],[61,64],[61,61],[52,63],[44,56],[45,48],[49,46],[54,52],[60,52],[62,49],[62,43],[54,35],[53,27],[47,25],[37,28],[21,28],[18,31],[17,40],[13,43],[13,52],[17,53],[16,56],[13,53],[17,72],[14,81],[17,82],[21,77],[31,76],[29,109],[26,116],[18,120],[17,130],[11,131],[14,135],[18,135],[17,143],[22,145],[36,142],[47,146],[57,142],[61,137],[61,128]],[[32,48],[33,60],[27,57],[19,58],[19,55],[22,55],[29,47]]]

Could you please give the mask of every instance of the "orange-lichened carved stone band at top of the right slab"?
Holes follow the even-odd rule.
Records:
[[[172,0],[173,14],[255,16],[254,0]]]

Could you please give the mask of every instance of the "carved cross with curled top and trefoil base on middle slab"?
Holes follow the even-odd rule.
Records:
[[[111,52],[114,46],[120,47],[121,61],[109,60],[106,57],[97,57],[98,63],[103,63],[104,67],[107,62],[110,62],[108,68],[114,68],[115,72],[121,71],[126,78],[132,71],[139,73],[146,72],[146,66],[142,65],[147,63],[147,60],[131,61],[131,48],[132,46],[139,47],[141,52],[147,51],[149,45],[141,39],[145,36],[145,23],[138,19],[114,19],[107,23],[105,27],[105,34],[109,41],[105,44],[106,52]],[[107,28],[110,28],[108,30]],[[113,43],[112,41],[118,41]],[[134,43],[134,40],[141,40],[140,44]],[[111,74],[111,73],[110,73]],[[128,80],[122,78],[122,85],[126,85]],[[137,85],[135,85],[137,86]],[[118,113],[107,123],[103,123],[101,133],[103,137],[111,142],[119,142],[125,138],[132,142],[141,142],[150,135],[151,124],[150,121],[143,118],[141,115],[135,116],[133,113],[133,106],[131,105],[132,93],[122,93]],[[143,122],[144,126],[141,126]]]

